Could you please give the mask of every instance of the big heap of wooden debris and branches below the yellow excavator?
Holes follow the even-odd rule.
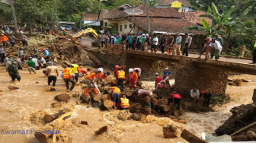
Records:
[[[95,56],[83,49],[84,47],[81,46],[80,40],[73,40],[70,36],[55,37],[39,34],[28,38],[27,42],[27,47],[23,47],[21,42],[17,42],[14,47],[6,47],[6,53],[18,58],[18,49],[22,47],[24,49],[24,58],[28,59],[29,56],[34,55],[33,47],[36,47],[40,55],[43,55],[42,49],[47,49],[51,54],[50,59],[56,63],[65,60],[68,62],[78,61],[81,65],[93,67],[101,65],[101,62]]]

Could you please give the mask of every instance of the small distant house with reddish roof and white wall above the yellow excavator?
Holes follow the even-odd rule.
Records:
[[[81,21],[87,26],[101,26],[98,20],[98,14],[82,14]]]

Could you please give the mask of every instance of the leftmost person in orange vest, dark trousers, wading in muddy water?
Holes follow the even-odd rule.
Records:
[[[75,87],[75,81],[72,78],[72,68],[74,68],[73,65],[69,65],[68,68],[65,68],[63,71],[63,80],[66,83],[66,89],[69,91],[72,91],[73,88]],[[72,86],[70,87],[70,89],[69,89],[69,82],[72,83]]]

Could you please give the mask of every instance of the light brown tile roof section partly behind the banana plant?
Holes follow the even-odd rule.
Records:
[[[201,18],[204,18],[210,25],[212,24],[212,20],[207,17],[200,17],[202,14],[207,14],[204,11],[189,11],[189,12],[181,12],[181,18],[190,21],[192,24],[197,24],[202,26]]]

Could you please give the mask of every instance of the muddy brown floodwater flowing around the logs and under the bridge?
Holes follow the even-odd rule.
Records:
[[[44,87],[46,87],[47,80],[42,70],[38,71],[36,75],[30,75],[26,69],[20,71],[21,82],[18,83],[11,83],[11,78],[5,72],[4,67],[0,68],[0,72],[0,89],[4,91],[0,92],[0,129],[27,131],[27,134],[24,135],[4,135],[1,132],[0,142],[39,142],[34,138],[33,130],[40,129],[45,125],[42,118],[51,108],[50,104],[56,102],[53,98],[58,94],[65,93],[64,82],[58,78],[56,91],[46,92]],[[242,77],[251,79],[251,76],[248,75],[242,75]],[[20,87],[20,89],[9,91],[9,85]],[[154,82],[144,82],[143,85],[149,89],[154,88]],[[74,92],[82,93],[80,86],[77,85]],[[187,120],[186,125],[154,116],[149,116],[146,122],[121,121],[117,117],[121,111],[101,112],[91,108],[90,105],[76,105],[75,101],[78,99],[72,97],[69,103],[62,103],[62,106],[73,109],[73,113],[66,126],[60,129],[60,138],[64,142],[186,142],[182,138],[163,138],[162,126],[171,124],[180,129],[187,128],[197,135],[200,135],[201,132],[213,132],[230,116],[229,109],[232,106],[251,102],[254,86],[254,82],[246,83],[242,87],[229,86],[227,93],[231,94],[235,100],[222,107],[217,106],[216,112],[213,113],[186,113],[183,116]],[[88,126],[79,124],[78,122],[81,120],[87,121]],[[102,126],[108,126],[108,132],[95,136],[94,132]]]

